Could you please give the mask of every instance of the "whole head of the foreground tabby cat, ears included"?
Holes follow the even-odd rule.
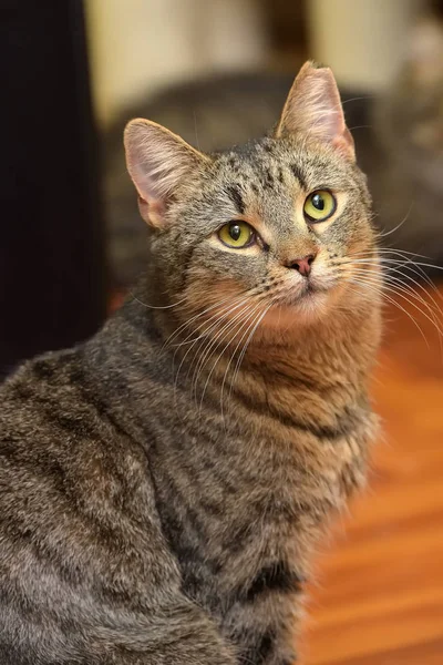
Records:
[[[134,120],[125,146],[153,232],[157,305],[206,311],[196,325],[222,313],[233,326],[270,308],[272,326],[316,321],[375,293],[370,198],[329,69],[305,64],[262,140],[205,155]]]

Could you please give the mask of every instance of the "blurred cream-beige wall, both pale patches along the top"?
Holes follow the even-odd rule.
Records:
[[[140,93],[268,60],[264,0],[85,4],[95,106],[103,124]],[[420,4],[421,0],[306,0],[309,55],[330,64],[342,84],[378,89],[398,68]]]

